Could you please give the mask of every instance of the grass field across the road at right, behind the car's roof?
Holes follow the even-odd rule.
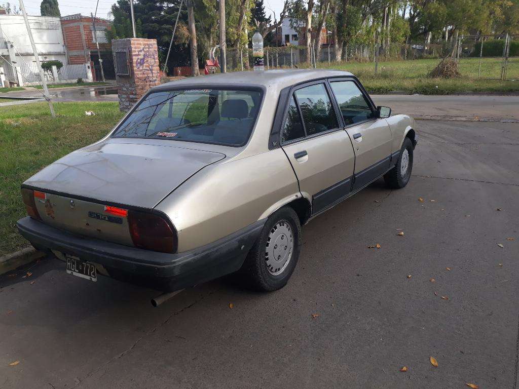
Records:
[[[420,94],[452,94],[459,92],[519,92],[519,59],[513,58],[508,64],[508,78],[501,81],[500,58],[483,58],[481,77],[478,78],[479,58],[460,60],[461,77],[456,79],[430,78],[427,75],[440,62],[439,59],[379,62],[375,74],[373,62],[350,62],[318,64],[321,67],[346,70],[358,76],[370,93],[404,91]]]

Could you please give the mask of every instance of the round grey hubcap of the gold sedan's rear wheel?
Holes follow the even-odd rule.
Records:
[[[286,220],[280,220],[270,229],[265,247],[265,264],[272,275],[281,274],[290,263],[294,252],[294,234]]]

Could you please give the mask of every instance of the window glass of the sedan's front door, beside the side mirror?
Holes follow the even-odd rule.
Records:
[[[370,104],[353,81],[332,81],[330,85],[346,126],[375,117]]]

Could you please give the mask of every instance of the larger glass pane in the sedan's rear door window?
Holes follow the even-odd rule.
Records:
[[[310,85],[296,90],[294,94],[301,108],[307,135],[339,127],[324,84]]]

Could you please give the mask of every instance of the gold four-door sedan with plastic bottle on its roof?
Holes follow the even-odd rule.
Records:
[[[301,226],[411,176],[414,120],[351,73],[216,74],[149,90],[113,131],[26,180],[20,233],[64,270],[176,290],[237,272],[283,287]]]

